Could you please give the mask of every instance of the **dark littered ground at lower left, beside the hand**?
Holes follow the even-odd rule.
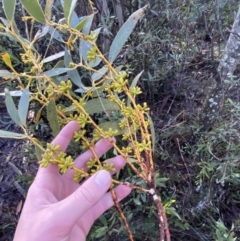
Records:
[[[0,109],[0,129],[20,132],[20,128]],[[0,241],[13,240],[27,190],[37,170],[30,160],[28,141],[0,138]]]

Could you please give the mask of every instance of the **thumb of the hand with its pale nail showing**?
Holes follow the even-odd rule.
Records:
[[[74,193],[58,203],[60,204],[58,215],[63,217],[69,226],[74,225],[86,211],[104,196],[110,188],[111,180],[110,173],[105,170],[95,173]]]

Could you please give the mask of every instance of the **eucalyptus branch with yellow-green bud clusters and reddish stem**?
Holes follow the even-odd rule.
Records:
[[[11,74],[19,79],[19,87],[23,93],[25,93],[25,91],[27,93],[28,89],[33,90],[33,93],[31,93],[27,99],[26,104],[29,105],[30,101],[37,101],[40,104],[41,107],[40,110],[38,110],[38,117],[36,118],[36,121],[40,118],[39,116],[41,115],[42,110],[45,108],[48,110],[51,104],[51,108],[54,108],[54,113],[57,115],[52,116],[52,119],[48,117],[52,129],[54,129],[55,126],[57,126],[56,128],[60,128],[72,120],[79,124],[81,131],[76,131],[73,139],[75,142],[81,143],[84,148],[89,149],[92,153],[93,158],[88,160],[86,163],[88,170],[76,168],[72,157],[61,152],[59,146],[47,144],[47,147],[43,148],[37,139],[27,134],[25,123],[20,123],[20,126],[24,130],[28,139],[43,152],[39,164],[42,167],[47,167],[49,164],[57,165],[62,174],[66,173],[68,170],[72,170],[74,172],[74,181],[76,182],[81,181],[82,178],[90,177],[98,170],[105,169],[107,171],[114,171],[114,167],[111,164],[102,163],[99,160],[99,157],[94,149],[94,145],[99,139],[103,138],[108,140],[115,148],[117,154],[122,155],[126,159],[126,162],[131,170],[138,178],[143,180],[147,186],[147,188],[143,188],[140,185],[138,186],[127,183],[124,180],[113,179],[112,181],[112,198],[119,216],[123,220],[129,239],[131,241],[134,240],[130,226],[117,201],[116,194],[113,189],[116,184],[128,185],[134,190],[138,190],[152,196],[157,209],[157,216],[160,224],[159,240],[164,241],[166,238],[167,241],[170,241],[165,210],[160,198],[156,194],[152,140],[149,127],[150,121],[148,119],[150,109],[146,103],[143,103],[142,105],[137,103],[136,96],[141,94],[142,91],[139,87],[131,86],[129,84],[128,73],[118,70],[117,67],[113,65],[113,61],[121,49],[119,48],[119,45],[123,46],[124,42],[126,42],[127,37],[130,34],[129,29],[131,31],[133,30],[137,21],[145,13],[147,7],[139,9],[136,13],[130,16],[130,18],[119,30],[119,34],[122,34],[123,36],[122,42],[118,39],[119,37],[117,35],[113,40],[113,46],[109,50],[109,56],[105,56],[96,43],[98,37],[96,32],[90,32],[90,27],[88,26],[95,14],[95,8],[92,1],[89,0],[88,2],[93,14],[86,17],[85,20],[82,20],[83,22],[80,21],[76,27],[72,27],[70,25],[72,16],[71,9],[67,9],[67,11],[64,12],[65,14],[66,12],[69,12],[69,15],[64,16],[64,19],[61,19],[58,23],[55,23],[50,19],[51,14],[49,11],[48,14],[46,14],[47,16],[44,14],[41,15],[40,6],[38,12],[34,12],[34,9],[32,9],[30,14],[31,16],[24,16],[23,18],[26,26],[27,21],[31,21],[31,29],[28,34],[28,40],[24,39],[16,31],[14,31],[13,25],[10,29],[5,29],[5,31],[13,36],[22,46],[23,53],[21,54],[21,59],[25,65],[31,67],[30,71],[27,73],[16,71],[12,68],[11,62],[6,59],[4,60],[5,63],[11,67],[13,72]],[[29,9],[30,4],[31,3],[24,7]],[[40,37],[43,37],[44,33],[38,31],[37,34],[33,36],[36,21],[42,21],[42,23],[45,24],[45,27],[51,27],[54,29],[43,57],[36,49],[36,43],[40,41]],[[127,31],[125,31],[125,29],[127,29]],[[68,63],[64,63],[64,65],[59,68],[50,68],[46,70],[44,60],[46,59],[47,53],[51,52],[49,46],[52,44],[55,33],[62,34],[61,45],[63,45],[65,49],[63,62]],[[76,47],[78,44],[82,46],[82,48],[80,48],[81,50],[76,49],[78,48]],[[61,54],[62,53],[64,53],[64,51],[61,52]],[[70,63],[69,61],[65,61],[69,57],[68,55],[71,57],[69,59],[73,59]],[[53,54],[50,56],[50,59],[52,58],[52,60],[55,60],[58,59],[59,56],[60,55]],[[92,80],[91,78],[93,77],[89,77],[92,85],[85,86],[81,82],[79,69],[88,72],[89,76],[93,76],[93,74],[98,75],[99,78],[96,78],[97,80]],[[105,72],[102,69],[104,69]],[[73,72],[74,74],[72,74]],[[55,79],[57,77],[60,78],[62,74],[65,75],[67,80],[55,81]],[[81,93],[81,95],[77,96],[73,93],[73,83],[83,89],[83,93]],[[36,85],[36,87],[32,88],[34,85]],[[98,97],[94,97],[95,89]],[[101,89],[104,97],[100,97],[99,89]],[[98,102],[96,101],[97,99],[99,100]],[[67,100],[70,104],[69,106],[65,106],[63,104],[60,105],[59,100]],[[91,108],[89,108],[90,103],[97,105],[100,111],[91,111]],[[112,112],[116,112],[120,116],[117,122],[117,127],[112,127],[111,125]],[[111,124],[109,124],[110,126],[108,129],[104,129],[101,126],[101,123],[99,124],[99,122],[96,121],[96,116],[94,115],[95,113],[105,115],[105,117],[110,121],[109,123]],[[22,113],[17,113],[17,115],[22,115]],[[17,119],[17,121],[19,120]],[[21,121],[22,120],[19,122]],[[91,134],[88,133],[89,130],[91,130]],[[59,129],[55,129],[53,132],[54,131],[56,133]],[[121,146],[118,142],[114,142],[113,138],[115,136],[119,136],[125,145]],[[132,162],[132,159],[134,159],[135,162]]]

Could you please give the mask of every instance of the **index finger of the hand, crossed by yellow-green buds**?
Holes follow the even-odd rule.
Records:
[[[69,143],[73,138],[75,131],[79,130],[79,125],[76,121],[69,122],[52,141],[53,144],[59,145],[61,151],[66,151]],[[56,165],[49,165],[47,168],[39,168],[38,172],[58,172],[59,168]]]

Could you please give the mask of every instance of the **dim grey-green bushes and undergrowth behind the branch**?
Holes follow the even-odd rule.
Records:
[[[225,91],[226,101],[216,123],[207,130],[202,128],[201,109],[214,81],[239,1],[126,0],[121,2],[122,15],[116,11],[115,1],[108,2],[107,14],[95,2],[99,15],[94,24],[104,27],[99,45],[104,41],[107,45],[106,33],[112,40],[121,16],[125,21],[146,3],[150,4],[150,10],[124,46],[117,64],[124,65],[130,73],[129,79],[144,70],[138,82],[144,92],[138,102],[146,101],[151,108],[156,136],[156,180],[163,203],[169,207],[172,240],[237,240],[240,230],[238,70]],[[57,6],[56,16],[60,15]],[[79,1],[77,11],[87,15],[88,7]],[[22,68],[19,46],[6,41],[0,38],[1,51],[14,53],[14,64]],[[44,51],[44,42],[39,49]],[[57,46],[51,51],[58,52]],[[1,69],[5,69],[1,64]],[[36,125],[48,125],[44,113],[40,123],[32,124],[32,130],[36,131]],[[126,181],[135,178],[136,184],[139,182],[128,169],[121,175]],[[134,193],[122,205],[135,239],[156,240],[157,217],[150,198]],[[101,217],[89,235],[89,240],[98,238],[128,240],[114,209]]]

